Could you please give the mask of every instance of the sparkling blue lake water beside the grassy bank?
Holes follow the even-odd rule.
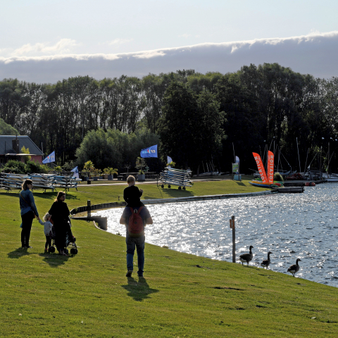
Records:
[[[303,194],[150,205],[154,225],[146,227],[146,242],[231,262],[234,215],[237,258],[252,245],[250,265],[260,267],[271,251],[269,268],[280,273],[301,258],[296,276],[338,287],[337,201],[338,183],[326,183]],[[125,236],[122,211],[98,212],[108,217],[108,232]]]

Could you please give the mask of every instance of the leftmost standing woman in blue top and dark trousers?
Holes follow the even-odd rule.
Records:
[[[24,249],[32,248],[30,246],[30,230],[32,230],[33,219],[39,220],[39,213],[35,206],[33,193],[30,191],[33,187],[32,180],[25,180],[20,191],[20,210],[21,220],[23,221],[21,230],[21,247]]]

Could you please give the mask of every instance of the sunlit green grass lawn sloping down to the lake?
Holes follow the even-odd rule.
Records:
[[[84,186],[66,202],[116,201],[123,188]],[[151,199],[187,193],[142,188]],[[196,182],[188,192],[239,189],[257,190],[220,181]],[[34,194],[42,215],[56,193]],[[22,251],[18,193],[0,192],[0,207],[2,337],[337,337],[337,288],[151,244],[145,279],[127,278],[123,237],[73,220],[79,253],[63,258],[44,253],[35,220],[33,249]]]

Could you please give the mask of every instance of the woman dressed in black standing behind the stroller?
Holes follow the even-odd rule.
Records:
[[[70,225],[68,223],[70,211],[65,203],[65,192],[58,192],[58,196],[48,213],[51,215],[51,219],[54,223],[56,249],[58,249],[61,255],[68,256],[68,254],[64,252],[64,249],[66,241],[65,237],[67,231],[70,230]]]

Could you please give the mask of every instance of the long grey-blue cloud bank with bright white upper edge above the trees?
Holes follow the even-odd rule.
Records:
[[[45,52],[52,54],[53,48],[63,51],[72,44],[75,44],[74,40],[68,41],[68,44],[43,46],[42,50],[47,48]],[[280,63],[299,73],[328,78],[338,76],[337,54],[337,31],[311,32],[299,37],[204,43],[134,53],[54,54],[36,57],[20,54],[0,58],[0,79],[16,77],[19,80],[44,83],[89,75],[99,80],[120,75],[142,77],[148,73],[168,73],[179,69],[194,69],[200,73],[227,73],[235,72],[242,65],[250,63]]]

